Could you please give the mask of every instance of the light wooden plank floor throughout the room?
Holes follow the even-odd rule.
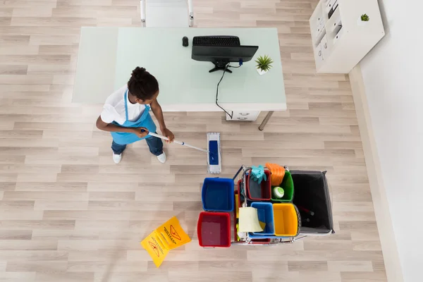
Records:
[[[262,132],[221,113],[165,118],[200,147],[221,133],[223,177],[267,161],[327,170],[336,234],[204,250],[204,154],[170,145],[159,164],[139,142],[116,166],[102,105],[71,104],[80,27],[140,26],[139,1],[0,1],[0,281],[386,281],[348,76],[314,71],[316,2],[194,0],[198,27],[278,28],[288,111]],[[156,269],[140,240],[173,215],[192,242]]]

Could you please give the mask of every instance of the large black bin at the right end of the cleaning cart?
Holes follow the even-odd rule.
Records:
[[[301,216],[300,234],[333,233],[331,198],[326,171],[290,171],[294,182],[293,204]]]

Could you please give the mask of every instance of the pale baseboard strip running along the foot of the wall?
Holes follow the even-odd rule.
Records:
[[[386,276],[388,281],[403,282],[403,271],[401,269],[395,234],[393,233],[391,213],[389,212],[388,199],[381,174],[381,165],[372,130],[372,119],[367,104],[367,95],[360,64],[355,66],[350,72],[350,83],[353,90],[355,111],[360,128],[370,190],[372,192],[374,214],[376,216],[382,252],[384,253]]]

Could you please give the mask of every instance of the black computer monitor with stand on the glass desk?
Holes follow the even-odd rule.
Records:
[[[227,71],[232,73],[231,70],[228,70],[228,63],[245,63],[251,61],[252,57],[255,55],[258,46],[192,46],[191,58],[195,61],[211,61],[214,63],[214,68],[212,68],[209,73],[214,71]]]

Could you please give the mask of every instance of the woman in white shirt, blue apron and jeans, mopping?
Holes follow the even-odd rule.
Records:
[[[173,142],[175,136],[166,128],[161,106],[157,102],[159,96],[159,82],[145,68],[137,67],[128,81],[128,85],[121,87],[111,94],[104,104],[102,114],[97,118],[97,128],[109,131],[113,142],[113,161],[118,164],[122,159],[122,152],[126,145],[145,139],[157,159],[164,164],[166,154],[163,152],[163,142],[149,132],[156,132],[156,125],[149,115],[151,109],[159,121],[163,135]],[[150,106],[148,106],[150,105]]]

